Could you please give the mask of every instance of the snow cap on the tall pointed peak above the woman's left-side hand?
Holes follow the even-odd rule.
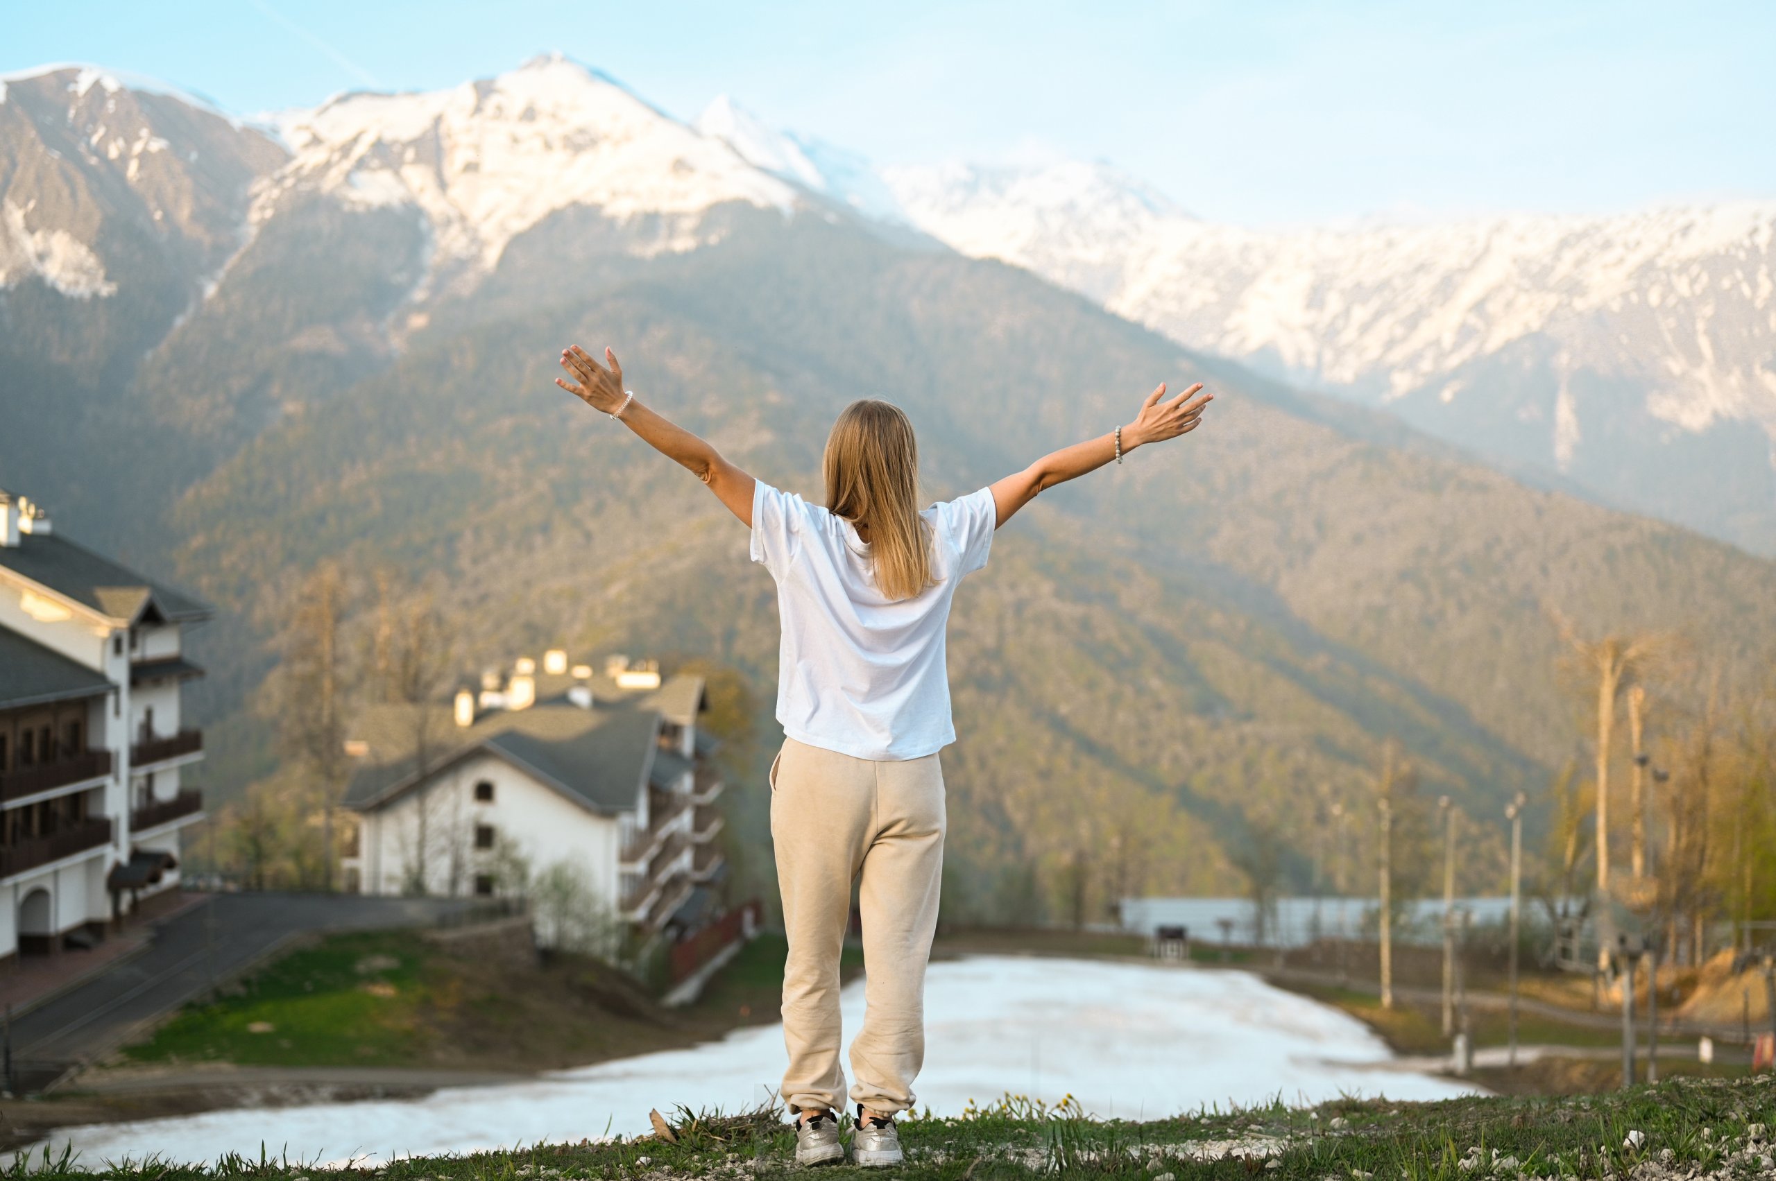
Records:
[[[439,263],[471,272],[490,270],[517,234],[568,206],[618,220],[661,215],[670,226],[659,249],[684,249],[712,206],[796,204],[789,185],[726,142],[559,53],[448,91],[343,94],[279,130],[295,158],[261,210],[293,188],[417,206]]]

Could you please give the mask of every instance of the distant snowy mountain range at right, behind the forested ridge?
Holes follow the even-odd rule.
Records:
[[[1776,554],[1776,201],[1252,231],[1103,163],[877,170],[726,98],[698,126],[1190,348]]]

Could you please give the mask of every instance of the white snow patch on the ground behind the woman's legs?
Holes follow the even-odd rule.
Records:
[[[863,982],[844,995],[845,1032],[863,1019]],[[931,966],[918,1105],[961,1112],[1003,1092],[1096,1115],[1162,1117],[1227,1101],[1339,1094],[1444,1099],[1451,1080],[1389,1066],[1362,1023],[1243,971],[1074,959],[979,957]],[[648,1108],[757,1103],[785,1064],[780,1025],[719,1042],[604,1062],[508,1087],[462,1087],[426,1099],[211,1112],[64,1129],[87,1165],[158,1156],[213,1161],[259,1145],[291,1160],[373,1161],[469,1153],[648,1129]],[[847,1062],[849,1067],[849,1062]],[[847,1069],[849,1076],[849,1069]]]

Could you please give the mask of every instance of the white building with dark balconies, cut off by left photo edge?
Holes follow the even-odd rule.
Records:
[[[183,629],[206,618],[0,492],[0,957],[87,943],[178,886],[202,820]]]

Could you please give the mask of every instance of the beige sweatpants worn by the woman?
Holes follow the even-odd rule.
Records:
[[[943,877],[943,769],[936,755],[872,762],[789,739],[771,764],[771,838],[789,963],[783,966],[783,1101],[844,1110],[838,954],[861,876],[863,1028],[851,1042],[851,1099],[913,1106],[925,1060],[925,961]]]

